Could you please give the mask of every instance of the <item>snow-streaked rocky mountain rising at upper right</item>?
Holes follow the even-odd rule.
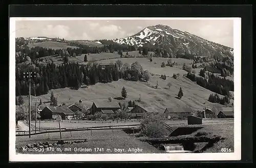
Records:
[[[233,48],[231,47],[162,24],[147,26],[135,35],[115,39],[113,42],[140,47],[154,45],[176,54],[187,52],[206,57],[214,57],[214,55],[233,57]]]

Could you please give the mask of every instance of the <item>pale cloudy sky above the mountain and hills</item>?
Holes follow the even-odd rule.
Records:
[[[233,48],[233,20],[19,20],[16,37],[59,37],[67,40],[116,39],[131,36],[146,26],[172,29]]]

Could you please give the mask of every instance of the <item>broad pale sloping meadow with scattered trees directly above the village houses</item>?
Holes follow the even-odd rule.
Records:
[[[158,81],[158,89],[152,88]],[[168,82],[172,83],[170,89],[166,86]],[[79,90],[72,90],[69,88],[51,90],[46,95],[31,96],[31,99],[41,99],[42,102],[47,102],[49,105],[51,92],[57,98],[58,104],[65,102],[71,104],[78,102],[80,99],[82,103],[88,107],[92,106],[94,101],[108,101],[109,97],[115,98],[121,96],[122,87],[126,88],[128,97],[126,100],[120,102],[127,102],[129,100],[138,100],[141,95],[141,102],[137,102],[142,106],[155,107],[160,113],[169,106],[175,107],[191,107],[194,110],[202,109],[204,107],[211,108],[215,103],[208,102],[208,97],[211,91],[200,87],[195,82],[190,81],[185,77],[174,79],[167,77],[162,80],[159,76],[153,76],[148,82],[140,81],[125,81],[119,79],[111,83],[96,83],[96,85],[89,86],[89,88],[80,88]],[[177,99],[179,88],[182,88],[184,96],[182,99]],[[154,95],[152,95],[154,93]],[[28,103],[28,97],[24,96],[25,103]],[[119,100],[113,100],[119,102]],[[231,102],[233,100],[230,100]]]

